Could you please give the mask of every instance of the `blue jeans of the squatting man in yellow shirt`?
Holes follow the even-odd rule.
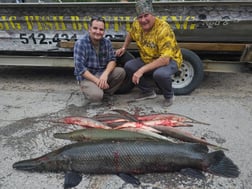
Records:
[[[132,59],[124,65],[124,69],[128,74],[129,78],[132,79],[133,74],[142,66],[144,62],[142,59]],[[171,76],[178,71],[178,65],[174,60],[170,60],[170,63],[166,66],[159,67],[155,70],[145,73],[139,81],[138,87],[143,92],[151,92],[153,89],[152,84],[148,78],[152,78],[156,85],[160,88],[165,98],[171,98],[174,94],[172,89]]]

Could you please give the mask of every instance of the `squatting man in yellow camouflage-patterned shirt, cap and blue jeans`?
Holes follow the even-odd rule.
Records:
[[[136,2],[137,19],[116,55],[124,54],[129,43],[135,41],[140,57],[126,62],[124,68],[132,82],[142,90],[136,100],[156,97],[154,88],[146,79],[151,76],[164,95],[164,104],[170,106],[174,99],[171,76],[182,64],[182,54],[170,25],[153,12],[151,0]]]

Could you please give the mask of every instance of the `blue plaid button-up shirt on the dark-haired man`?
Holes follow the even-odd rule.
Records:
[[[86,34],[76,41],[74,46],[74,75],[77,81],[81,81],[85,79],[83,73],[87,70],[94,75],[101,74],[107,64],[115,60],[110,40],[103,38],[100,41],[99,54],[97,55],[89,34]]]

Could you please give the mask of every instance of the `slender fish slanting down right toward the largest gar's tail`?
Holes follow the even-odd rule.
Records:
[[[201,138],[193,136],[189,132],[185,132],[185,131],[176,129],[174,127],[167,127],[167,126],[158,125],[158,126],[153,126],[153,128],[161,131],[164,135],[167,135],[167,136],[170,136],[173,138],[177,138],[177,139],[185,141],[185,142],[200,143],[200,144],[212,146],[214,148],[228,150],[227,148],[224,148],[224,147],[221,147],[221,146],[218,146],[215,144],[211,144],[211,143],[207,142],[206,140],[203,140]]]

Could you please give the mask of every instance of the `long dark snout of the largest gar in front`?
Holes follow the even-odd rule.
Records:
[[[41,163],[35,160],[23,160],[12,165],[14,169],[23,171],[38,171],[41,170]]]

